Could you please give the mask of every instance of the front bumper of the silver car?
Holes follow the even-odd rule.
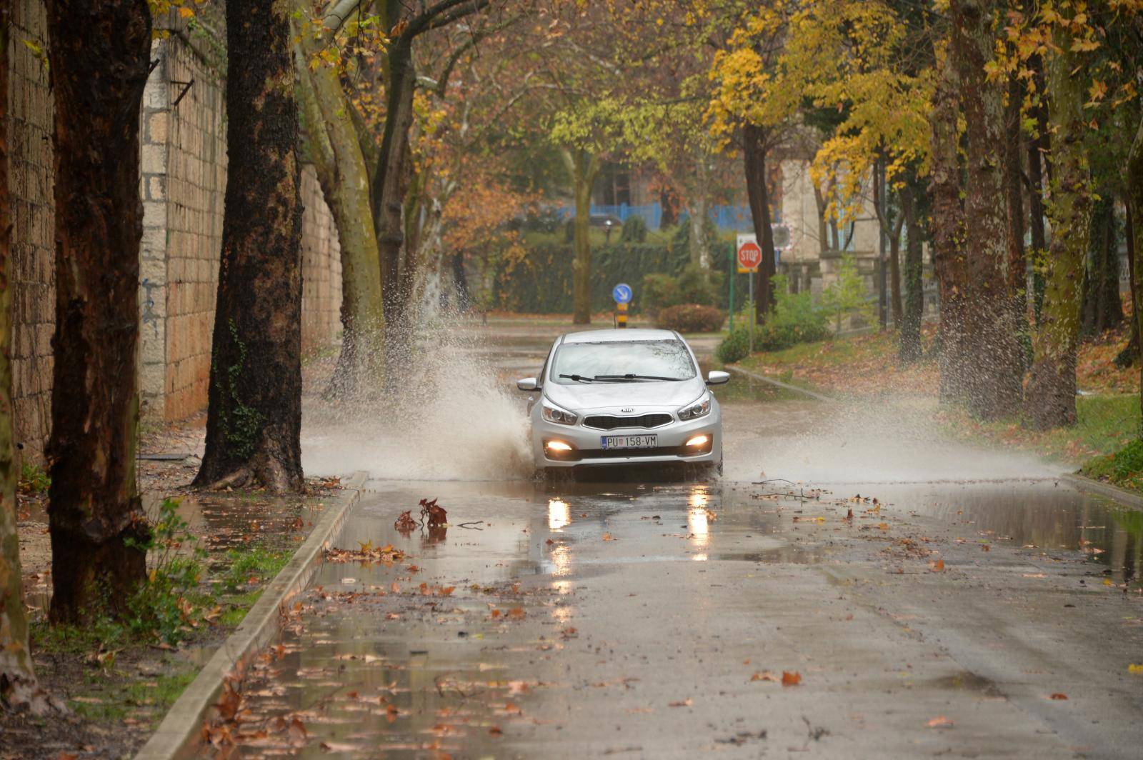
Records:
[[[601,439],[608,435],[657,435],[655,448],[604,450]],[[687,441],[696,435],[708,435],[710,445],[688,448]],[[546,446],[559,440],[573,451],[554,456]],[[632,464],[709,463],[722,459],[722,424],[718,409],[698,419],[673,422],[653,429],[597,430],[583,425],[558,425],[545,419],[534,419],[531,431],[533,456],[537,467],[623,466]],[[697,448],[697,451],[695,450]]]

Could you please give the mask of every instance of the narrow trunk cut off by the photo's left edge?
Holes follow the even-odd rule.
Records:
[[[42,714],[47,701],[27,649],[16,530],[16,447],[11,405],[11,207],[8,199],[9,0],[0,0],[0,709]]]

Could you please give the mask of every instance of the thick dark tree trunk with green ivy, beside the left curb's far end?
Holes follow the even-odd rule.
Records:
[[[226,3],[229,181],[194,485],[302,490],[302,202],[290,3]]]

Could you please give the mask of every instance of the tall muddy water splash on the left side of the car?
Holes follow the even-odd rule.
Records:
[[[423,328],[390,397],[314,402],[303,417],[306,474],[363,470],[383,480],[531,477],[522,394],[455,320]]]

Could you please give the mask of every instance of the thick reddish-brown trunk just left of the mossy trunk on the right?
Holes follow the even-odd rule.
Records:
[[[967,163],[965,232],[967,283],[972,307],[965,310],[965,390],[970,411],[997,419],[1020,408],[1023,352],[1016,336],[1007,270],[1007,210],[1004,173],[997,146],[1004,144],[1000,86],[989,81],[993,7],[989,0],[953,0],[953,61],[960,79]]]

